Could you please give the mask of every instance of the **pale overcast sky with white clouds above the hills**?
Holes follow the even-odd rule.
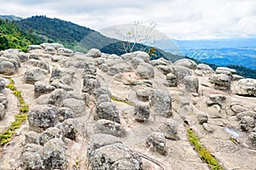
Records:
[[[96,31],[154,21],[173,39],[256,37],[256,0],[0,0],[0,14],[44,14]]]

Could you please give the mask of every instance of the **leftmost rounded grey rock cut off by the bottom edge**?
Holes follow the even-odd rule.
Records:
[[[42,146],[38,144],[26,144],[20,156],[20,167],[31,170],[45,169],[42,155]]]

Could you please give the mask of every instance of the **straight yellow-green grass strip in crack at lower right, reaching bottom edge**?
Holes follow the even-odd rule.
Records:
[[[203,145],[201,145],[193,130],[188,129],[187,132],[189,135],[189,142],[195,146],[195,150],[201,156],[201,159],[206,161],[212,170],[223,170],[223,167],[220,167],[216,158],[212,156],[211,153]]]

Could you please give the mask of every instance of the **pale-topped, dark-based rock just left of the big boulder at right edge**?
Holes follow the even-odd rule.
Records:
[[[218,90],[230,90],[230,77],[224,74],[216,74],[209,77],[209,81],[214,84]]]

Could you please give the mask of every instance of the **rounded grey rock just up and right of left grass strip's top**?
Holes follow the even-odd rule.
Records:
[[[23,77],[26,83],[34,84],[35,82],[44,80],[47,74],[47,71],[39,68],[28,68]]]

